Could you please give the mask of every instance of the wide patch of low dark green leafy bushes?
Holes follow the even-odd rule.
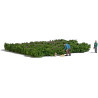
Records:
[[[65,54],[64,44],[68,43],[71,46],[71,53],[83,53],[90,49],[88,43],[78,43],[77,40],[50,40],[50,41],[35,41],[30,43],[5,43],[5,50],[28,55],[31,57],[54,56],[55,52],[58,55]]]

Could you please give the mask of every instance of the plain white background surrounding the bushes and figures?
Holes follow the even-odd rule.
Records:
[[[98,98],[98,0],[0,0],[0,98]],[[75,39],[91,50],[30,58],[4,43]]]

